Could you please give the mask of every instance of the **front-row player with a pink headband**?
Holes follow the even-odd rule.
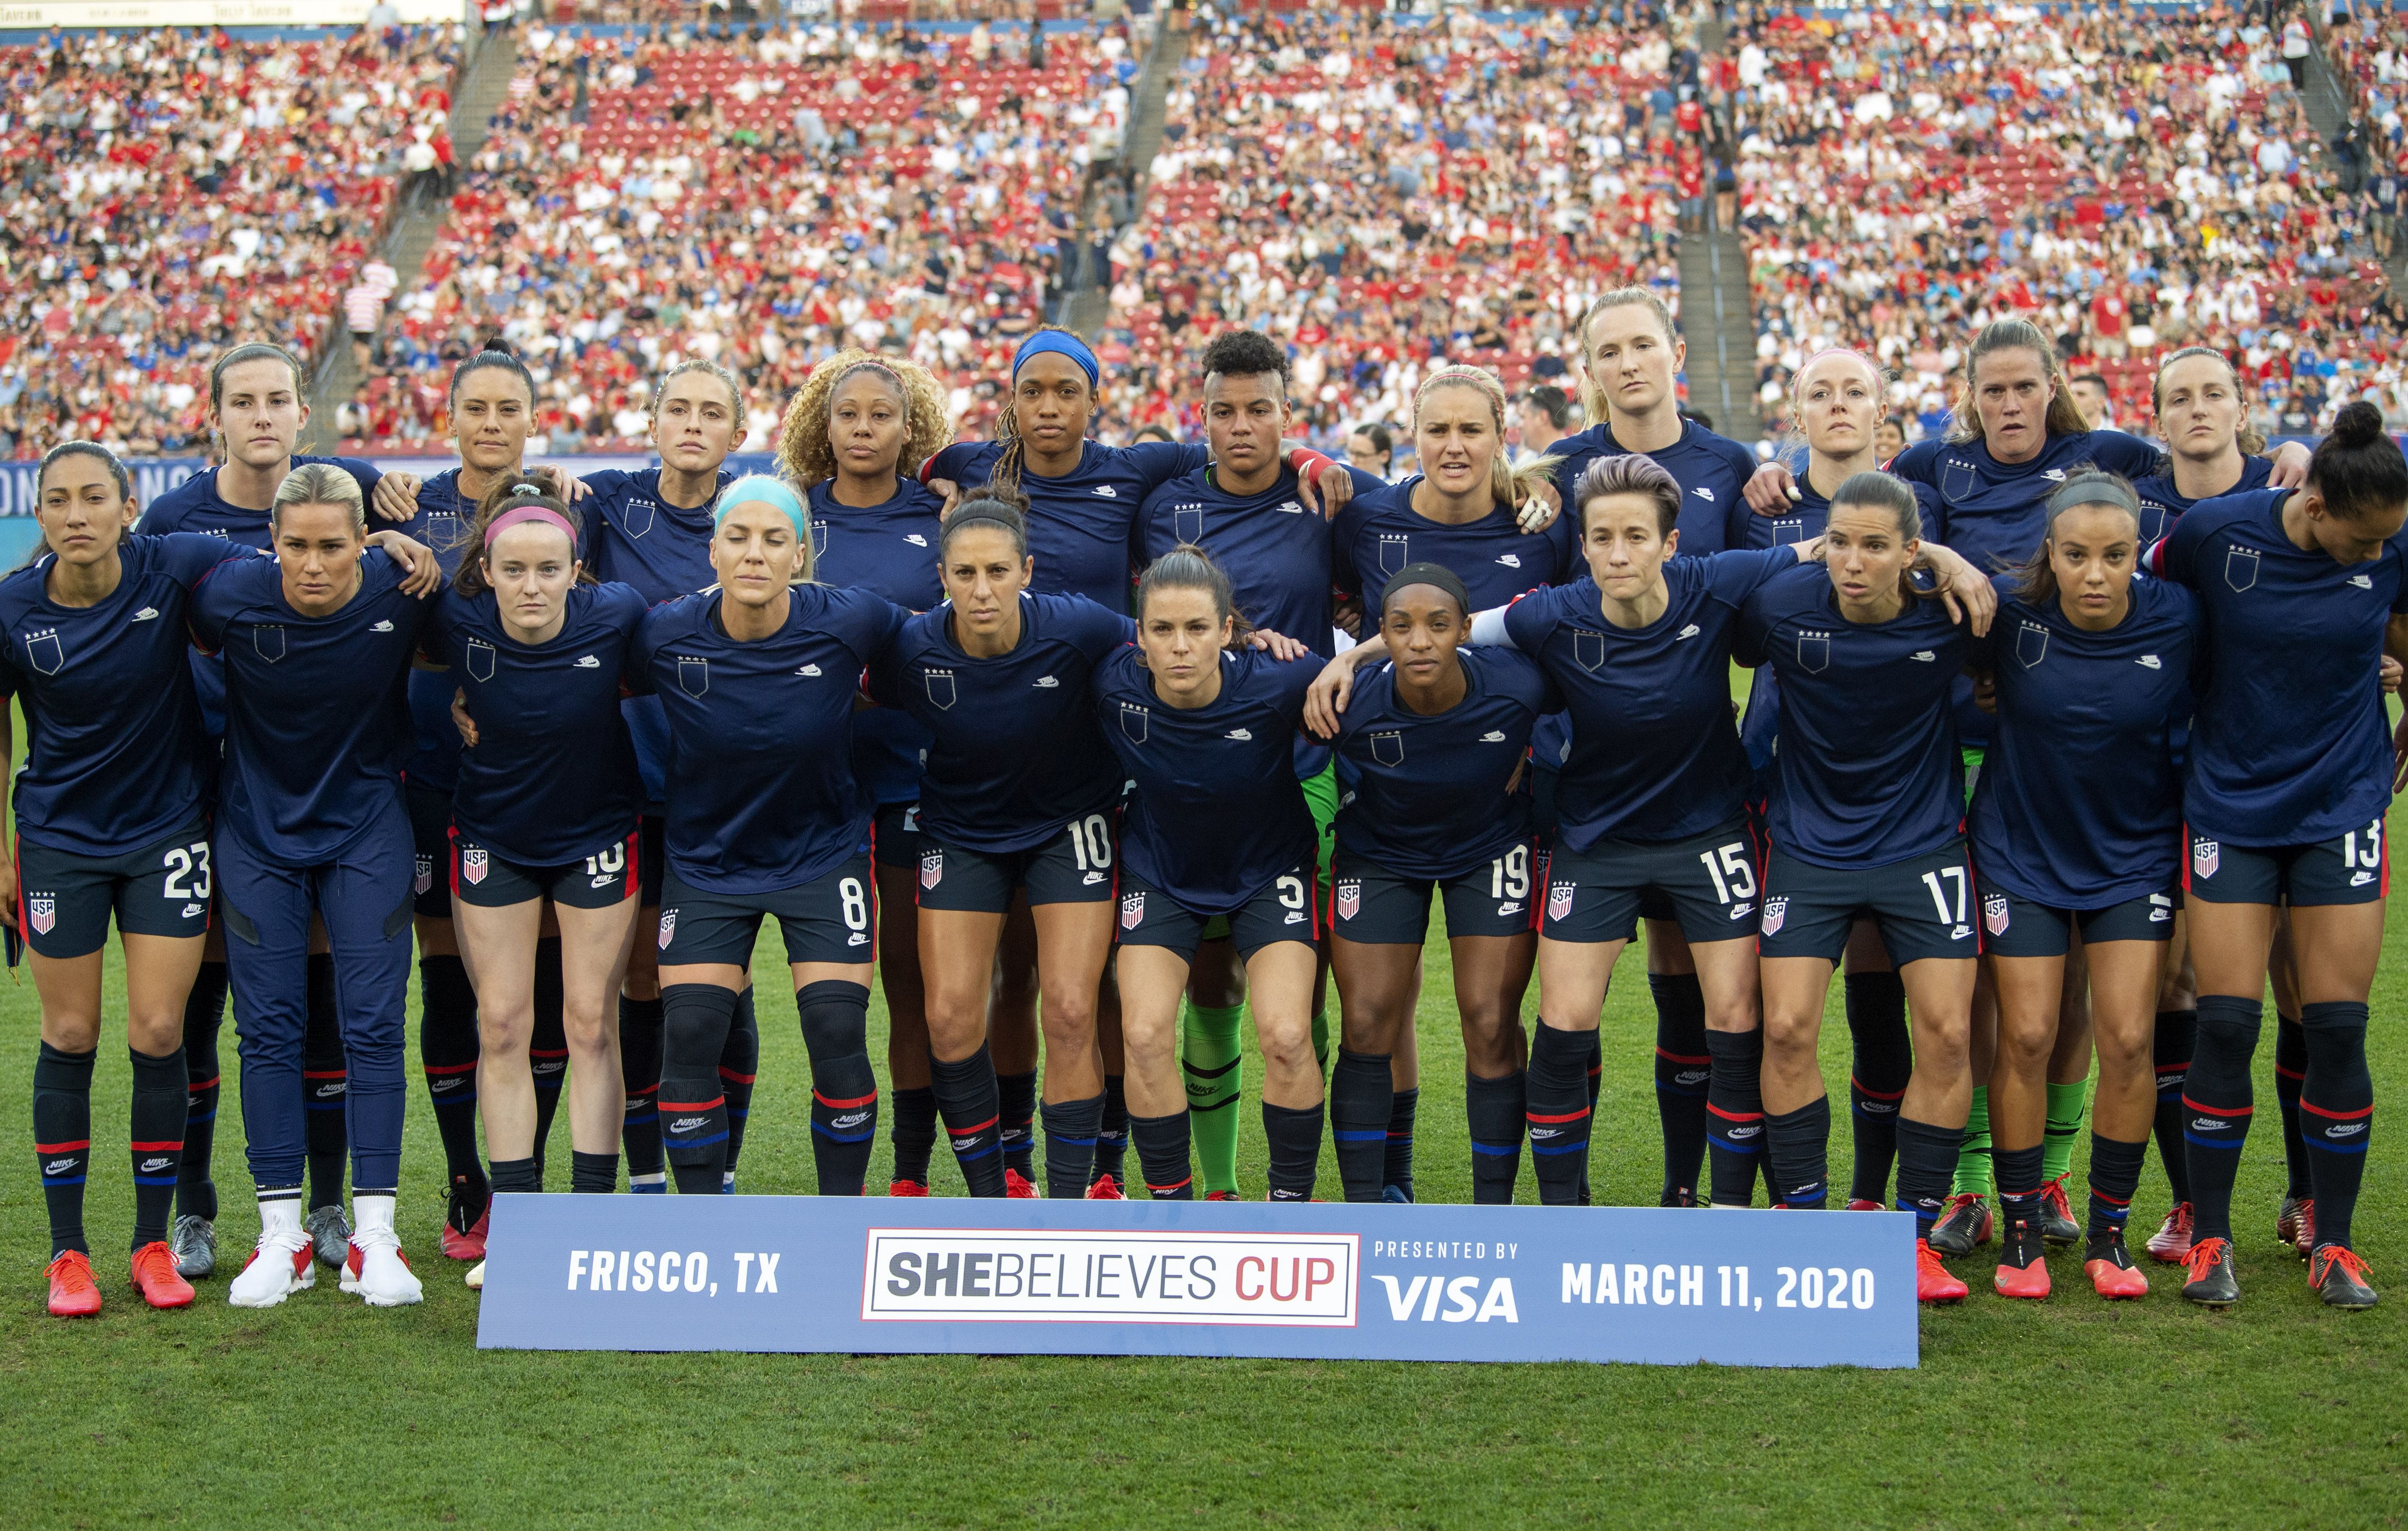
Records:
[[[482,717],[453,792],[453,922],[477,989],[477,1105],[496,1192],[539,1192],[535,1158],[535,956],[559,922],[571,1189],[619,1187],[616,1016],[636,929],[643,785],[619,713],[619,674],[645,599],[595,585],[576,513],[539,479],[496,481],[477,546],[436,599],[421,648]],[[583,583],[580,583],[583,580]],[[482,1273],[482,1266],[479,1266]],[[470,1285],[482,1285],[472,1278]]]

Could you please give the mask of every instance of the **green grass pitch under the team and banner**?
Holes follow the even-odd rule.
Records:
[[[2398,941],[2394,951],[2398,951]],[[811,1184],[807,1066],[761,963],[761,1088],[742,1184]],[[2408,1086],[2401,963],[2374,992],[2377,1090]],[[1442,941],[1421,1013],[1423,1199],[1469,1201],[1462,1052]],[[1835,985],[1837,997],[1837,985]],[[1534,997],[1536,999],[1536,997]],[[884,1074],[884,1013],[872,1011]],[[1659,1139],[1654,1011],[1640,953],[1606,1004],[1594,1180],[1601,1201],[1652,1204]],[[2090,1295],[2078,1252],[2056,1297],[2006,1302],[1989,1266],[1975,1297],[1922,1314],[1917,1372],[1724,1367],[1479,1367],[1406,1362],[530,1355],[474,1348],[477,1295],[436,1254],[441,1158],[412,1078],[405,1242],[429,1281],[414,1310],[371,1312],[332,1281],[279,1310],[226,1307],[224,1278],[154,1314],[125,1285],[128,1069],[104,1040],[89,1230],[108,1300],[99,1319],[43,1314],[48,1254],[31,1165],[31,980],[0,985],[0,1483],[14,1526],[340,1521],[508,1524],[1700,1524],[1772,1512],[1878,1524],[2398,1524],[2408,1519],[2408,1172],[2377,1148],[2360,1249],[2386,1305],[2326,1312],[2273,1242],[2276,1115],[2239,1187],[2244,1305],[2196,1312],[2153,1266],[2148,1300]],[[2271,1090],[2271,1025],[2259,1098]],[[414,1059],[414,1042],[412,1042]],[[1832,1006],[1828,1076],[1845,1025]],[[234,1033],[226,1030],[234,1078]],[[1259,1066],[1247,1062],[1250,1086]],[[1252,1112],[1252,1088],[1250,1105]],[[238,1264],[248,1206],[229,1083],[219,1237]],[[1262,1192],[1250,1117],[1243,1172]],[[551,1184],[563,1187],[566,1124]],[[939,1141],[939,1160],[944,1158]],[[1845,1175],[1847,1143],[1832,1165]],[[2081,1160],[2076,1160],[2081,1168]],[[886,1180],[886,1151],[872,1168]],[[1324,1194],[1336,1168],[1322,1163]],[[958,1194],[951,1165],[939,1194]],[[1529,1172],[1522,1196],[1534,1199]],[[2155,1228],[2150,1163],[2133,1228]]]

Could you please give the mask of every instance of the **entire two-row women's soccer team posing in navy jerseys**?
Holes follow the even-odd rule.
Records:
[[[0,580],[51,1312],[101,1305],[111,915],[130,1285],[181,1307],[214,1273],[231,989],[260,1235],[229,1300],[327,1266],[388,1307],[424,1295],[412,951],[443,1254],[479,1285],[561,1103],[573,1192],[621,1158],[633,1192],[734,1189],[763,917],[819,1194],[864,1194],[884,1115],[893,1196],[942,1124],[975,1196],[1240,1199],[1252,1016],[1269,1199],[1315,1196],[1327,1136],[1348,1201],[1411,1201],[1433,898],[1476,1201],[1524,1146],[1539,1201],[1592,1199],[1599,1013],[1645,922],[1664,1206],[1835,1204],[1845,963],[1845,1206],[1914,1216],[1922,1300],[1991,1237],[2001,1295],[2076,1242],[2102,1297],[2148,1293],[2155,1136],[2143,1254],[2227,1307],[2271,977],[2278,1235],[2324,1302],[2374,1305],[2350,1218],[2408,660],[2379,414],[2266,457],[2191,347],[2160,453],[2085,428],[1999,320],[1953,428],[1885,469],[1881,366],[1811,356],[1792,474],[1681,416],[1647,291],[1580,342],[1597,424],[1517,465],[1503,385],[1440,366],[1397,484],[1286,441],[1286,351],[1247,330],[1202,354],[1202,445],[1091,441],[1098,361],[1040,330],[992,443],[949,445],[908,361],[824,361],[778,474],[727,472],[744,395],[703,361],[655,390],[657,469],[530,472],[503,349],[453,373],[460,462],[426,481],[296,457],[301,373],[262,344],[209,373],[224,465],[149,508],[104,448],[51,450],[43,546]]]

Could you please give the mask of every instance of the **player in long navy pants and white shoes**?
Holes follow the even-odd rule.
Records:
[[[243,1134],[260,1245],[236,1307],[315,1281],[301,1228],[301,1050],[311,915],[325,924],[349,1059],[352,1237],[342,1290],[417,1302],[393,1206],[402,1155],[409,939],[407,674],[426,602],[366,546],[368,510],[340,467],[294,469],[270,510],[275,561],[222,563],[193,592],[193,640],[226,657],[217,821],[226,956],[243,1042]]]

